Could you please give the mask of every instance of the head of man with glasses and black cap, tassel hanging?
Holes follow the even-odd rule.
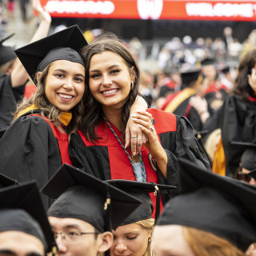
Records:
[[[112,228],[141,202],[98,178],[63,165],[42,188],[56,201],[47,211],[57,255],[96,256],[110,249]]]

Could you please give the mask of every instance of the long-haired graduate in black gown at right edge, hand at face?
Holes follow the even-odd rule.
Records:
[[[247,146],[256,145],[256,49],[248,51],[238,65],[233,94],[206,120],[205,130],[222,130],[214,156],[213,171],[234,177]],[[238,146],[242,143],[243,146]],[[218,165],[218,159],[224,159]]]

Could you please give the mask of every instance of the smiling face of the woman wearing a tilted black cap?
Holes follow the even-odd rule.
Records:
[[[53,106],[63,112],[70,111],[81,101],[84,94],[85,67],[66,60],[52,62],[45,88],[46,98]]]

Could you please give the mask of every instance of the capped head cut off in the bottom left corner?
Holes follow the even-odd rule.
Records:
[[[56,250],[35,182],[0,190],[0,255],[44,256]]]

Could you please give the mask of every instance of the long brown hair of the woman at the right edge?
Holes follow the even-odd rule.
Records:
[[[249,50],[244,54],[238,65],[238,75],[234,81],[233,93],[242,97],[242,99],[248,101],[250,95],[254,94],[254,90],[251,89],[248,82],[248,74],[251,74],[251,70],[256,64],[256,48]]]

